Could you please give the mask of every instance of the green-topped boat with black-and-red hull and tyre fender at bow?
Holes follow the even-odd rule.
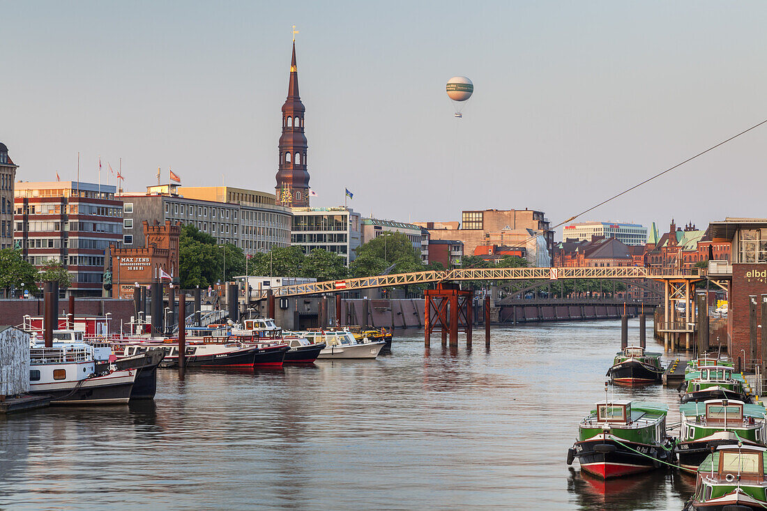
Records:
[[[601,479],[654,470],[672,459],[666,435],[668,406],[642,401],[602,401],[578,424],[578,439],[568,450],[581,470]]]

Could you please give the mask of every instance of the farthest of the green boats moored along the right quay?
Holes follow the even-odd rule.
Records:
[[[742,374],[725,365],[704,365],[697,371],[690,371],[684,376],[682,388],[683,403],[709,399],[752,402]]]

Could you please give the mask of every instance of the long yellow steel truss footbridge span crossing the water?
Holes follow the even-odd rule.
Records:
[[[430,284],[460,281],[503,281],[548,279],[651,279],[659,282],[690,282],[706,278],[704,269],[643,268],[640,266],[610,266],[584,268],[489,268],[452,269],[378,275],[361,279],[329,280],[309,284],[283,285],[271,289],[274,298],[301,295],[319,295],[354,291],[357,289],[386,288],[397,285]],[[269,292],[255,292],[255,299],[268,298]]]

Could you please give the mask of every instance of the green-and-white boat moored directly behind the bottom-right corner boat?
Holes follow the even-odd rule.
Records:
[[[676,460],[686,468],[697,469],[711,453],[711,447],[739,441],[760,446],[767,439],[767,410],[761,404],[712,399],[681,404],[679,411],[682,424],[674,452]]]

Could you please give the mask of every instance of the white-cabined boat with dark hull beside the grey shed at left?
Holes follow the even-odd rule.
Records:
[[[54,342],[45,347],[32,341],[30,393],[51,396],[51,404],[127,404],[137,371],[110,367],[97,371],[95,349],[84,343]]]

